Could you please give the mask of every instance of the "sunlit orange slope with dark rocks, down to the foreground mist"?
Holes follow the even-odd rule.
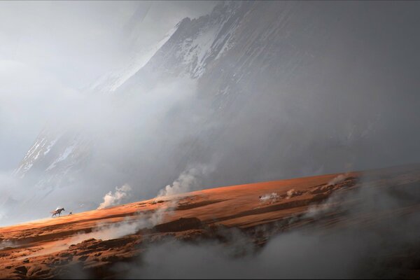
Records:
[[[221,227],[253,232],[259,225],[276,224],[276,232],[287,230],[311,223],[296,217],[316,204],[332,203],[328,197],[358,188],[362,179],[372,187],[392,181],[411,188],[420,181],[420,165],[199,190],[0,228],[0,278],[63,276],[75,265],[104,277],[109,276],[104,267],[129,260],[146,244],[164,238],[217,238]],[[418,210],[416,204],[393,214]],[[363,221],[378,216],[370,214]],[[265,244],[266,239],[254,241]]]

